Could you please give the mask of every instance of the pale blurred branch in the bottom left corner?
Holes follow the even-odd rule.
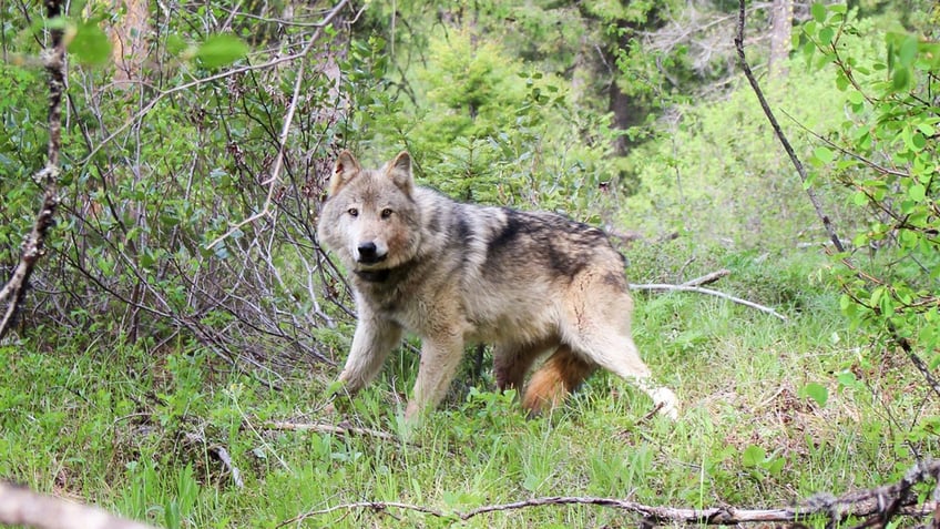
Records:
[[[0,481],[0,526],[38,529],[154,529],[96,507],[73,503]]]

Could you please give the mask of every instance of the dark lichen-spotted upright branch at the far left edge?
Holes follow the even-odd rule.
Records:
[[[62,0],[47,0],[45,14],[49,20],[63,13]],[[32,231],[23,243],[20,262],[10,281],[0,289],[0,303],[7,307],[0,317],[0,339],[13,325],[17,312],[22,305],[29,279],[35,264],[45,254],[45,235],[52,227],[55,210],[59,207],[59,151],[62,143],[62,98],[65,93],[65,45],[64,31],[50,29],[50,47],[43,55],[47,87],[49,88],[49,145],[45,166],[39,171],[35,180],[43,185],[42,205],[35,215]]]

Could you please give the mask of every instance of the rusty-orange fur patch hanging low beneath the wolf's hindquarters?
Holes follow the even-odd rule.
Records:
[[[552,409],[594,373],[595,366],[583,360],[566,345],[562,345],[529,380],[522,406],[537,415]]]

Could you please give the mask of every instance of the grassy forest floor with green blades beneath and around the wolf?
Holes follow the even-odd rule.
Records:
[[[634,282],[656,255],[632,255]],[[162,350],[116,338],[57,342],[43,329],[0,347],[0,477],[166,527],[277,527],[310,510],[398,501],[438,511],[542,496],[600,496],[677,507],[783,507],[897,479],[913,450],[924,391],[902,357],[869,350],[837,315],[813,255],[676,260],[695,276],[773,305],[784,323],[698,294],[638,293],[635,337],[683,404],[677,423],[594,376],[552,416],[525,419],[486,375],[458,384],[408,444],[266,428],[313,423],[335,368],[298,366],[279,390],[186,344]],[[674,271],[675,272],[675,271]],[[337,350],[341,360],[344,350]],[[875,358],[875,360],[872,360]],[[410,353],[354,400],[350,424],[402,433]],[[840,380],[841,383],[837,382]],[[937,415],[937,409],[927,410]],[[399,436],[398,439],[401,439]],[[218,447],[241,471],[234,485]],[[549,506],[466,522],[412,510],[347,510],[288,527],[632,527],[610,508]]]

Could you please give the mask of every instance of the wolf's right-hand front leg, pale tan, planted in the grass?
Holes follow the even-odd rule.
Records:
[[[425,338],[421,344],[421,365],[411,400],[405,409],[405,419],[420,420],[421,416],[433,409],[447,394],[450,382],[457,373],[457,366],[463,355],[462,336]]]

